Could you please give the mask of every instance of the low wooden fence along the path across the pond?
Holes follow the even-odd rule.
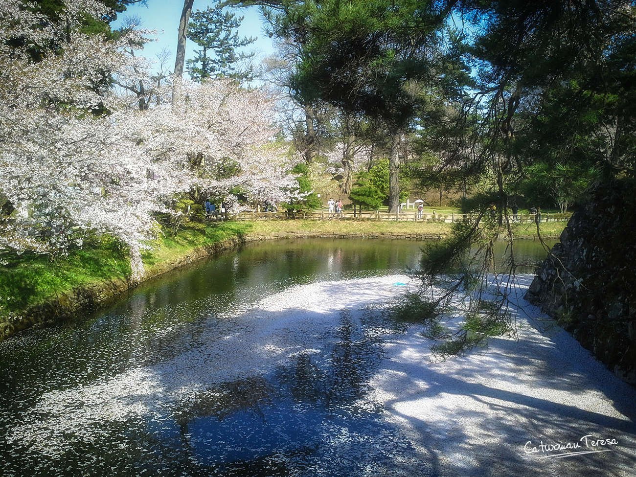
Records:
[[[540,214],[541,222],[567,222],[572,214]],[[410,222],[445,222],[453,223],[456,221],[462,221],[464,219],[472,219],[472,214],[459,214],[455,212],[449,213],[429,213],[423,212],[422,214],[417,211],[398,212],[396,214],[389,214],[388,212],[354,212],[346,211],[339,213],[329,213],[328,211],[314,211],[303,212],[300,214],[294,214],[290,216],[287,211],[278,212],[251,212],[245,211],[240,214],[218,214],[207,215],[209,219],[223,220],[285,220],[285,219],[306,219],[306,220],[378,220],[378,221],[410,221]],[[485,216],[487,217],[487,216]],[[511,220],[516,223],[531,223],[536,219],[535,214],[517,214],[511,216]]]

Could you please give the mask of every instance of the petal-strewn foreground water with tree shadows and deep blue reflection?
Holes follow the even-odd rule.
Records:
[[[417,327],[395,334],[359,311],[394,294],[382,280],[312,284],[198,319],[177,333],[190,337],[179,354],[45,394],[9,436],[20,453],[8,474],[630,475],[636,394],[576,342],[520,318],[518,342],[432,363]],[[619,445],[554,460],[524,452],[586,434]]]

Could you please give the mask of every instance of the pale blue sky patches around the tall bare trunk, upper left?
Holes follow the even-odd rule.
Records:
[[[213,3],[214,1],[195,0],[192,10],[205,10]],[[179,29],[181,10],[183,10],[182,0],[148,0],[147,7],[140,4],[129,6],[128,10],[120,14],[113,27],[118,27],[121,24],[121,20],[127,16],[141,18],[141,27],[148,30],[156,30],[158,38],[158,41],[149,43],[144,47],[144,56],[154,59],[156,53],[163,48],[168,48],[172,53],[172,59],[169,61],[170,71],[172,71],[177,48],[177,30]],[[273,53],[272,40],[263,32],[263,20],[258,8],[232,8],[230,11],[236,13],[237,17],[245,17],[239,29],[240,36],[255,36],[258,38],[256,42],[245,48],[245,50],[256,52],[257,57]],[[186,59],[193,57],[194,46],[188,40]]]

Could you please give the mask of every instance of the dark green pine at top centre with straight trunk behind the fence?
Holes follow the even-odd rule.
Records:
[[[399,207],[399,148],[412,127],[425,85],[450,78],[439,57],[445,3],[283,3],[271,15],[275,34],[302,46],[293,86],[306,102],[320,99],[384,123],[391,137],[389,208]]]

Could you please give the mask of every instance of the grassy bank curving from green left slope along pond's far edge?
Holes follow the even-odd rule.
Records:
[[[558,237],[565,223],[542,225],[546,237]],[[194,249],[212,247],[225,239],[244,235],[268,237],[282,232],[298,233],[404,233],[447,235],[450,224],[376,221],[257,221],[209,223],[201,230],[188,228],[176,236],[162,235],[144,252],[148,275],[188,256]],[[536,235],[534,224],[517,225],[517,237]],[[66,258],[25,254],[0,268],[0,321],[2,315],[20,314],[26,308],[52,300],[59,294],[106,280],[125,280],[130,275],[128,255],[114,240],[104,239]]]

